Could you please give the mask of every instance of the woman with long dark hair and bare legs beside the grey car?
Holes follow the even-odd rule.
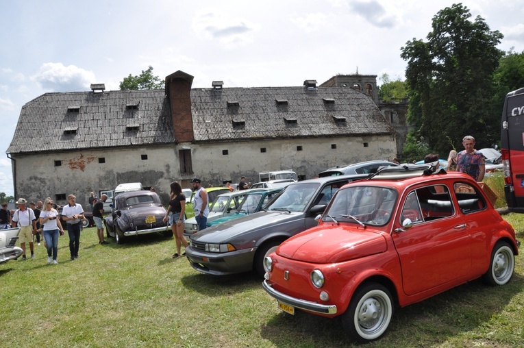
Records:
[[[169,197],[169,208],[167,210],[164,221],[169,221],[175,242],[177,243],[177,252],[173,254],[173,258],[180,256],[181,245],[184,248],[188,247],[188,241],[184,237],[184,223],[186,222],[186,196],[182,193],[182,186],[178,182],[171,183],[171,195]],[[186,256],[186,251],[182,253]]]

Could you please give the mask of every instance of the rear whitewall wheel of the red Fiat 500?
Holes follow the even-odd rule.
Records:
[[[484,274],[484,282],[489,285],[508,283],[515,270],[515,255],[507,242],[498,242],[491,251],[490,268]]]

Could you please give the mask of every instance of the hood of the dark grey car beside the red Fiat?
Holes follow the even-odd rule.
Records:
[[[191,236],[191,240],[201,243],[226,243],[232,238],[249,234],[260,229],[277,229],[279,224],[303,219],[303,212],[272,211],[256,212],[203,229]]]

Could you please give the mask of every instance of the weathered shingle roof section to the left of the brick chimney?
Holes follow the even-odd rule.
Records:
[[[175,142],[164,94],[164,90],[46,93],[23,106],[7,152]],[[128,125],[139,127],[129,130]]]

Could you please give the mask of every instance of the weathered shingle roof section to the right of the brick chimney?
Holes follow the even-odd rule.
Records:
[[[394,132],[370,97],[347,87],[194,88],[191,108],[195,141]]]

